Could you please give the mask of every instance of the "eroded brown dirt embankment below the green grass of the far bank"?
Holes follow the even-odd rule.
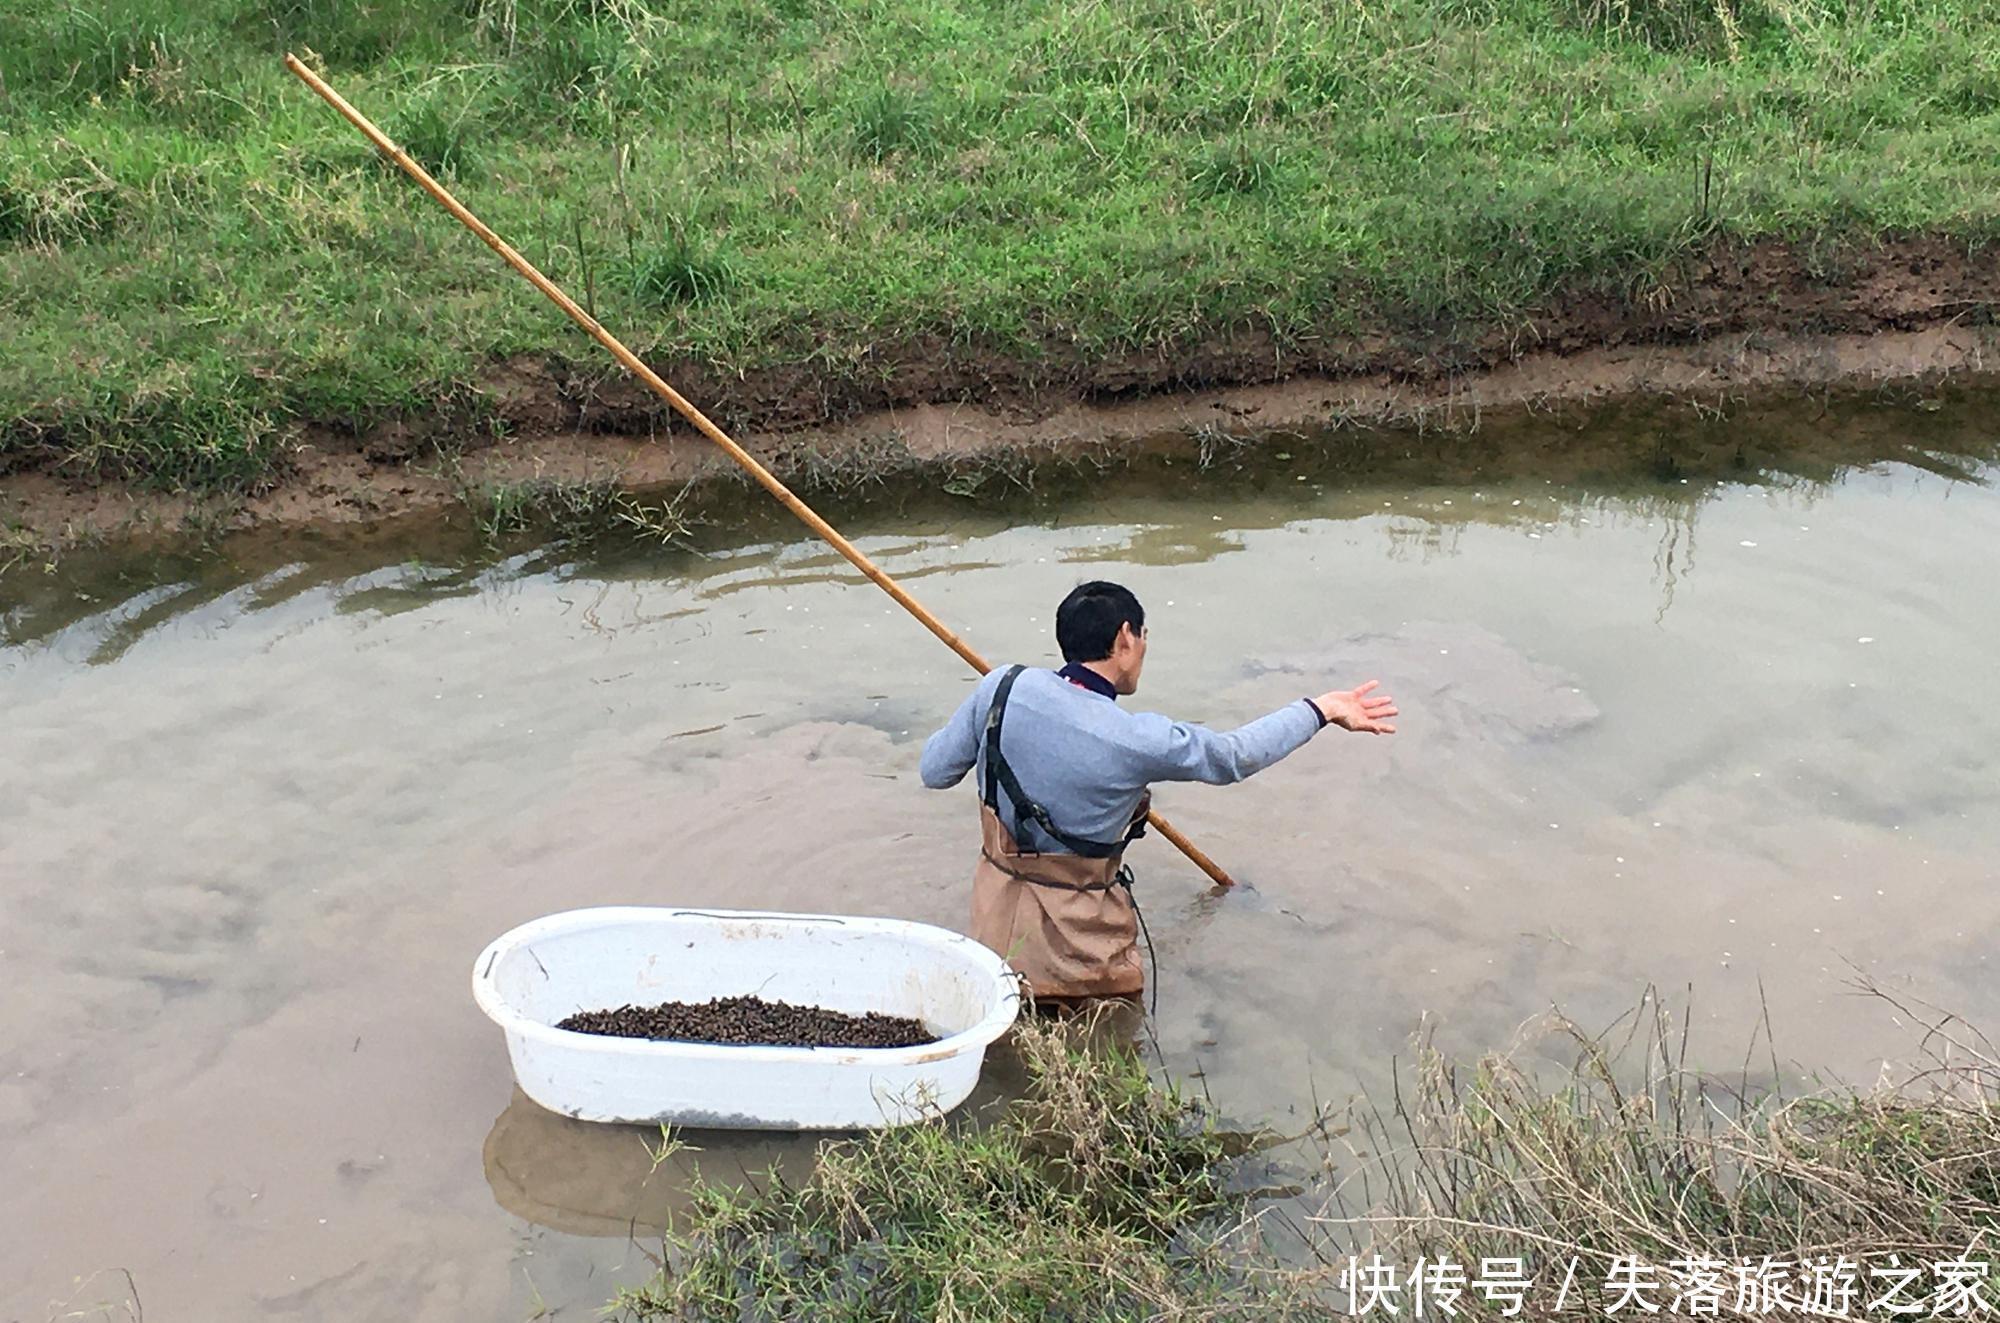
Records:
[[[1244,334],[1180,354],[1034,362],[950,344],[882,346],[840,372],[788,366],[662,376],[754,454],[918,458],[1002,446],[1136,442],[1222,428],[1342,424],[1476,428],[1494,414],[1632,396],[1712,412],[1772,392],[1830,392],[1994,370],[2000,248],[1912,238],[1868,250],[1718,246],[1644,298],[1580,296],[1518,326],[1380,328],[1280,348]],[[556,316],[554,312],[550,316]],[[636,380],[578,360],[496,364],[482,420],[400,420],[368,432],[304,424],[270,488],[228,502],[68,480],[58,456],[0,476],[0,522],[64,542],[116,532],[368,522],[524,480],[630,488],[726,464]],[[498,424],[498,426],[494,426]],[[6,524],[0,524],[4,528]],[[18,536],[18,532],[16,532]]]

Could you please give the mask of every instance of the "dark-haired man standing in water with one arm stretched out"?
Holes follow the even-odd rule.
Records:
[[[1376,681],[1286,703],[1232,731],[1118,707],[1146,665],[1146,612],[1118,584],[1056,608],[1060,671],[998,667],[924,743],[924,785],[978,767],[980,863],[972,935],[1008,957],[1036,997],[1138,995],[1138,919],[1124,847],[1152,781],[1228,785],[1328,725],[1390,735]]]

